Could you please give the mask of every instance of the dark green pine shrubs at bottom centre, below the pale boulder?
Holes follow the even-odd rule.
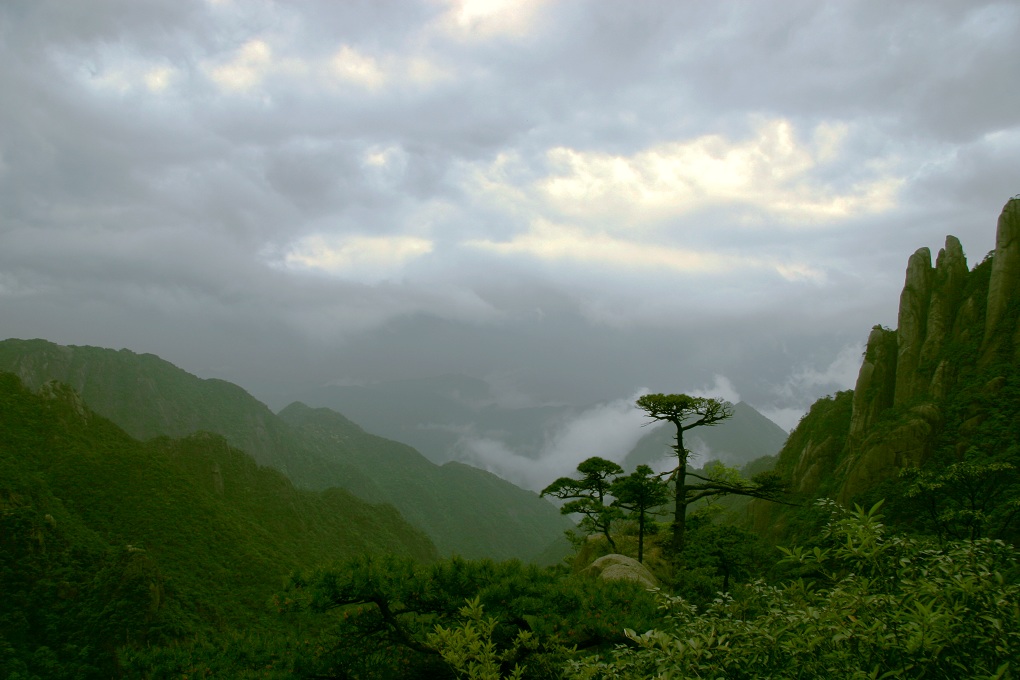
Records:
[[[359,678],[470,677],[472,668],[511,675],[517,664],[523,678],[560,678],[567,649],[609,648],[625,641],[627,627],[656,620],[655,601],[638,583],[459,558],[431,565],[355,558],[296,574],[278,608],[334,617],[336,643],[323,669],[344,667]],[[406,664],[393,666],[397,658]],[[363,670],[381,665],[391,668]]]

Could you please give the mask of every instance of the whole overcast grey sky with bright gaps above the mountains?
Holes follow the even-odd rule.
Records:
[[[1020,192],[1020,3],[2,0],[0,336],[789,427]]]

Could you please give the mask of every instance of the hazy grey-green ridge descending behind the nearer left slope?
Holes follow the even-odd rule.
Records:
[[[296,405],[282,418],[233,383],[198,378],[154,355],[8,339],[0,342],[0,370],[37,388],[66,382],[135,437],[215,432],[298,486],[391,503],[445,555],[530,559],[570,526],[546,500],[486,471],[437,466],[340,414],[319,410],[308,421]]]

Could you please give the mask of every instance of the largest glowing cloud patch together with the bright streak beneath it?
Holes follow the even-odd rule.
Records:
[[[829,164],[848,162],[849,134],[846,124],[826,122],[804,142],[780,118],[760,122],[743,141],[709,135],[626,156],[566,147],[546,151],[542,160],[503,152],[486,165],[466,167],[464,191],[487,210],[527,226],[465,245],[632,271],[756,271],[787,283],[825,285],[823,268],[786,257],[774,241],[759,240],[759,250],[732,241],[719,242],[718,249],[706,245],[706,229],[690,216],[711,210],[731,232],[758,224],[788,231],[891,209],[903,181],[891,161],[870,163],[863,179],[842,190],[823,178]],[[684,233],[692,239],[678,242]]]

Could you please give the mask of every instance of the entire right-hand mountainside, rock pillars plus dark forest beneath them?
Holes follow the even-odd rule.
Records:
[[[919,529],[1014,537],[1018,318],[1014,198],[999,218],[996,250],[973,269],[952,236],[934,266],[927,248],[910,257],[897,329],[871,330],[853,393],[812,407],[776,470],[803,499],[887,498],[891,516]],[[757,502],[750,512],[755,526],[779,535],[796,515]]]

